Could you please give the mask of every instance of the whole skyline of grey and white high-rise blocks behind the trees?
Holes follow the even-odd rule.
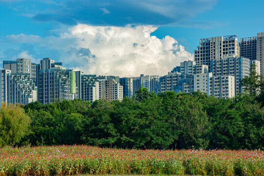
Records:
[[[164,76],[88,75],[78,69],[66,69],[50,58],[40,64],[22,58],[3,61],[0,103],[47,104],[74,98],[91,103],[98,99],[121,101],[125,96],[134,96],[141,86],[158,94],[199,90],[208,96],[231,98],[243,91],[240,81],[249,75],[252,64],[258,74],[264,74],[264,32],[240,42],[236,35],[200,39],[194,61],[182,62]]]

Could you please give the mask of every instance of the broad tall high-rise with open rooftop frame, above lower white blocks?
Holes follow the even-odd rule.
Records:
[[[207,65],[210,69],[211,60],[220,60],[223,56],[239,56],[239,44],[236,35],[211,37],[199,40],[194,50],[196,65]]]

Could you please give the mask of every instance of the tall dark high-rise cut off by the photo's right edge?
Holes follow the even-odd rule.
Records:
[[[240,53],[242,57],[260,61],[261,74],[264,75],[264,32],[256,37],[240,39]]]

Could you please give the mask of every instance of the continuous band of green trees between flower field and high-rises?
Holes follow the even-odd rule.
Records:
[[[157,95],[140,88],[121,102],[80,99],[42,105],[3,104],[0,146],[86,144],[137,149],[264,149],[264,84],[251,71],[243,94]],[[259,80],[258,85],[252,82]]]

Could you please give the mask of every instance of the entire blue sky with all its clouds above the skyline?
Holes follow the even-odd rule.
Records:
[[[0,63],[50,57],[86,74],[162,76],[193,60],[201,38],[264,32],[263,6],[264,0],[0,0]]]

